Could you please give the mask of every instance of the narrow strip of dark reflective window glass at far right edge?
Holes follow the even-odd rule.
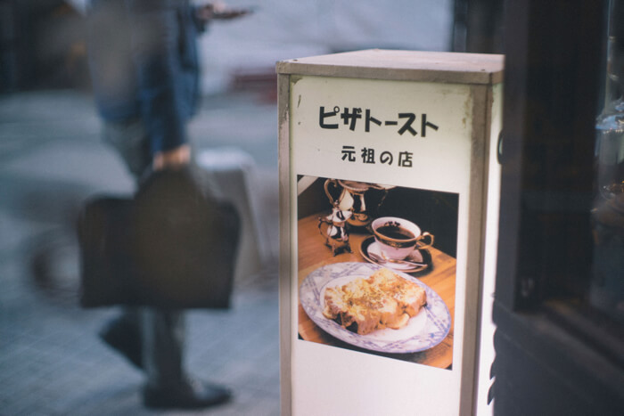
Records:
[[[605,104],[596,120],[592,306],[624,322],[624,0],[609,13]]]

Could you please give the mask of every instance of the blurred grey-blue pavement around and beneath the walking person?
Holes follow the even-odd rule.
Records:
[[[275,124],[275,102],[250,93],[207,97],[193,120],[199,149],[234,145],[254,159],[272,257],[237,282],[231,310],[188,314],[188,367],[231,387],[234,402],[159,413],[279,413]],[[132,186],[100,142],[88,95],[0,96],[0,414],[152,414],[141,404],[143,375],[97,338],[118,311],[77,304],[78,208]]]

